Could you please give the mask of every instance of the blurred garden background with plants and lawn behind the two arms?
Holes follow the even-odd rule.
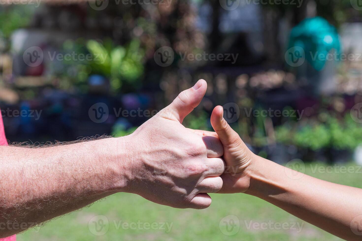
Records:
[[[185,126],[212,130],[210,114],[222,105],[254,153],[300,159],[312,176],[362,188],[359,0],[0,0],[0,23],[9,142],[127,135],[203,78],[206,96]],[[119,194],[18,239],[338,240],[309,224],[300,233],[247,230],[244,220],[298,219],[253,197],[212,197],[209,209],[191,211]],[[226,236],[219,222],[231,214],[241,227]],[[174,226],[96,236],[92,215]]]

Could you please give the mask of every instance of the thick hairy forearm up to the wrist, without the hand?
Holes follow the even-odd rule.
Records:
[[[131,174],[126,149],[127,138],[46,148],[1,146],[0,237],[126,191]],[[13,224],[25,228],[4,228]]]

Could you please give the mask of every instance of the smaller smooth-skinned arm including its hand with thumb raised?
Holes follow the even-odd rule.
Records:
[[[253,154],[223,118],[221,106],[212,111],[211,125],[228,167],[220,193],[251,194],[336,236],[362,239],[362,189],[322,181]]]

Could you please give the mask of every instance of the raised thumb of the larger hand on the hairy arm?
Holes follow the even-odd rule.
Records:
[[[169,111],[168,113],[182,123],[184,118],[200,104],[206,93],[206,89],[206,81],[200,79],[193,87],[182,91],[177,98],[173,100],[166,108],[167,111]]]

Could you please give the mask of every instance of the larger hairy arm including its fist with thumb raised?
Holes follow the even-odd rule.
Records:
[[[198,81],[127,137],[0,146],[0,224],[7,227],[0,238],[120,191],[172,207],[208,207],[206,193],[223,185],[223,146],[218,137],[181,125],[206,87]]]

